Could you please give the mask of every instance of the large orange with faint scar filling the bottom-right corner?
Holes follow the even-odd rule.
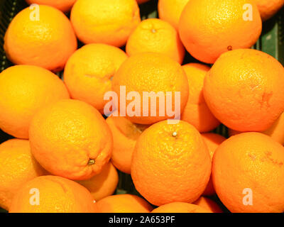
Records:
[[[283,146],[268,135],[234,135],[213,157],[212,179],[219,199],[234,213],[283,212],[283,163]],[[244,189],[251,189],[252,205],[244,205],[245,196],[250,196]]]

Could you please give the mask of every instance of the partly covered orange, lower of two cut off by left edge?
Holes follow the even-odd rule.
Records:
[[[43,169],[31,155],[28,140],[11,139],[0,145],[0,206],[9,209],[22,184],[43,175]]]

